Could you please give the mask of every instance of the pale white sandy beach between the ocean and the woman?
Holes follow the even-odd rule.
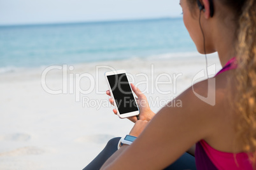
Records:
[[[216,69],[208,70],[213,77],[221,68],[216,53],[208,55],[208,65]],[[204,55],[195,53],[3,72],[0,169],[82,169],[108,140],[128,134],[133,123],[113,114],[105,94],[110,68],[126,70],[157,112],[205,67]]]

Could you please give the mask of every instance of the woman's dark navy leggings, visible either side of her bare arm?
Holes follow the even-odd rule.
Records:
[[[113,138],[108,141],[106,147],[97,155],[97,157],[90,162],[83,170],[97,170],[103,166],[104,162],[117,151],[117,144],[120,138]],[[183,154],[176,162],[166,167],[165,170],[183,170],[183,169],[192,169],[196,170],[195,157],[187,154]]]

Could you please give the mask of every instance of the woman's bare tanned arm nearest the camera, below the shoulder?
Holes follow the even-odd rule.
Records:
[[[208,82],[194,89],[207,96]],[[216,107],[197,98],[192,88],[176,100],[182,107],[162,108],[138,139],[113,154],[102,169],[164,169],[214,131]]]

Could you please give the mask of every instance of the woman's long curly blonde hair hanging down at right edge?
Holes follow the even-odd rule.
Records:
[[[247,0],[239,16],[236,80],[237,137],[256,164],[256,1]]]

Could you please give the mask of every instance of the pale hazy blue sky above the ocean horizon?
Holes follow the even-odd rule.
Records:
[[[0,0],[0,25],[181,16],[180,0]]]

